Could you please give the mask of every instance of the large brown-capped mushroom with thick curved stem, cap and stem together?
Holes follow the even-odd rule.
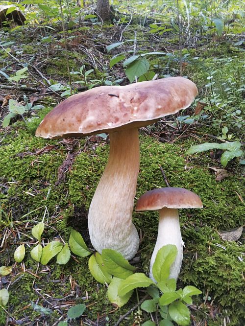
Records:
[[[36,136],[84,137],[109,133],[109,160],[92,199],[88,228],[94,248],[135,256],[139,236],[132,211],[139,172],[138,128],[187,108],[196,85],[182,77],[101,86],[59,103],[40,123]]]

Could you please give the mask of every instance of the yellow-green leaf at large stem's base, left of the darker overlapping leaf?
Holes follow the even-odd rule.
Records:
[[[102,257],[99,253],[95,253],[89,258],[89,270],[98,282],[102,284],[110,284],[112,276],[107,272]]]

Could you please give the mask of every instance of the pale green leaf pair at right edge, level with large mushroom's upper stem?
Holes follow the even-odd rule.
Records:
[[[222,144],[218,143],[211,143],[211,142],[204,142],[201,145],[194,145],[188,151],[186,154],[194,154],[194,153],[200,153],[204,151],[208,151],[211,149],[221,149],[224,150],[223,154],[221,155],[221,164],[225,167],[227,163],[234,159],[235,157],[241,157],[243,155],[243,151],[241,150],[241,142],[240,141],[226,141]],[[243,161],[241,161],[243,163]]]

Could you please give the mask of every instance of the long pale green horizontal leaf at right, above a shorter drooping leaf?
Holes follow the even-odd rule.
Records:
[[[226,141],[223,142],[222,144],[215,143],[215,142],[204,142],[203,144],[192,146],[191,148],[188,149],[188,151],[186,151],[186,154],[200,153],[214,148],[235,152],[240,150],[241,143],[239,140]]]

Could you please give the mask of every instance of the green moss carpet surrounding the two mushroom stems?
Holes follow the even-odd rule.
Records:
[[[67,173],[67,182],[55,186],[58,168],[67,156],[65,145],[59,140],[36,138],[33,133],[37,122],[48,111],[49,109],[40,112],[39,120],[29,121],[27,127],[23,122],[18,122],[18,128],[14,124],[12,126],[14,131],[6,136],[0,148],[0,178],[1,183],[7,185],[7,189],[4,189],[1,194],[3,200],[1,207],[6,213],[6,215],[2,214],[2,221],[9,227],[12,222],[14,226],[18,225],[18,228],[24,227],[26,221],[29,221],[29,229],[25,232],[30,234],[30,229],[34,226],[31,219],[41,221],[46,211],[45,221],[49,218],[49,225],[51,224],[54,229],[48,227],[45,229],[45,239],[52,240],[58,232],[65,241],[68,241],[70,233],[68,224],[76,223],[77,230],[83,232],[89,244],[86,210],[89,208],[107,162],[109,146],[104,142],[99,143],[95,149],[94,144],[87,145],[86,151],[76,156],[71,171]],[[81,140],[80,148],[84,141]],[[49,144],[58,144],[58,146],[43,155],[30,154]],[[208,168],[196,164],[198,161],[194,165],[193,162],[188,163],[184,153],[190,146],[189,140],[174,144],[159,143],[142,135],[140,144],[141,163],[137,198],[149,189],[166,186],[159,169],[161,165],[171,186],[190,189],[203,201],[202,210],[180,211],[183,240],[186,243],[180,281],[184,284],[195,284],[203,291],[204,296],[208,290],[212,300],[214,299],[215,303],[221,306],[221,318],[227,313],[231,325],[239,325],[238,323],[245,318],[242,309],[244,298],[241,294],[244,286],[243,263],[238,259],[243,255],[244,246],[240,243],[222,241],[216,230],[229,230],[243,224],[244,206],[236,193],[244,191],[241,180],[238,176],[236,179],[230,176],[219,183],[215,181],[214,175]],[[211,160],[201,154],[198,160],[202,159],[205,159],[207,164],[212,164]],[[81,219],[77,218],[79,211],[80,214],[83,212]],[[141,230],[143,235],[139,267],[143,272],[147,272],[157,235],[157,213],[134,212],[133,216],[137,229]],[[84,226],[82,226],[83,222]],[[21,240],[25,240],[24,235]],[[225,247],[226,250],[220,246]],[[9,248],[10,264],[13,264],[15,246],[9,245]],[[36,264],[31,260],[29,251],[26,248],[25,266],[35,272]],[[7,259],[8,255],[4,252],[3,261],[7,262]],[[119,316],[135,303],[135,298],[133,297],[122,309],[109,314],[113,307],[106,299],[106,288],[101,285],[97,288],[97,282],[88,271],[88,258],[77,259],[78,262],[71,260],[65,266],[57,265],[55,259],[52,259],[49,263],[51,279],[57,280],[62,275],[65,277],[71,275],[79,286],[79,297],[86,297],[86,291],[88,292],[89,300],[85,300],[85,303],[91,304],[87,309],[91,320],[96,320],[97,312],[101,313],[101,311],[108,315],[112,322],[118,320]],[[69,293],[68,279],[54,283],[47,282],[46,274],[41,276],[41,279],[36,279],[35,282],[43,293],[52,294],[55,298],[59,298],[62,293]],[[29,300],[33,302],[37,300],[38,294],[33,292],[31,285],[34,279],[35,277],[30,274],[25,274],[25,278],[18,280],[14,288],[10,287],[10,303],[15,306],[13,310],[15,317],[21,316],[21,309],[29,304]],[[20,289],[26,297],[20,296]],[[196,300],[202,303],[202,298]],[[84,300],[80,299],[80,301]],[[40,304],[42,303],[41,300]],[[203,318],[205,308],[203,309],[198,312],[197,320]],[[36,316],[36,312],[33,312],[31,307],[28,307],[25,312],[28,316]],[[51,321],[52,317],[50,318]],[[133,323],[134,319],[131,316],[129,320]],[[124,325],[128,325],[128,322],[125,321]],[[210,325],[220,325],[219,319],[212,323]]]

